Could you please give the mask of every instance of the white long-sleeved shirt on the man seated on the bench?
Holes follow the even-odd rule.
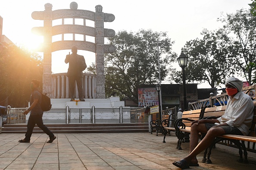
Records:
[[[239,91],[228,99],[225,114],[218,118],[218,121],[237,127],[246,136],[253,122],[253,109],[253,100],[250,96]]]

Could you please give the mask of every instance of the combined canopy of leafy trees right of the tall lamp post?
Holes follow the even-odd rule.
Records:
[[[240,9],[219,21],[218,30],[204,29],[202,39],[188,41],[182,48],[189,57],[188,82],[208,82],[212,88],[224,83],[227,76],[244,76],[252,85],[256,63],[256,18],[250,11]],[[254,74],[254,75],[253,75]],[[181,82],[181,72],[172,73]]]

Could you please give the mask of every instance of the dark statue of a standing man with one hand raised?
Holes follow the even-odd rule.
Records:
[[[69,70],[67,77],[69,77],[69,94],[71,97],[70,101],[75,100],[75,81],[78,88],[78,97],[80,101],[84,100],[83,88],[82,88],[82,77],[83,70],[86,69],[87,65],[84,60],[84,56],[77,54],[77,47],[72,47],[72,54],[66,55],[65,63],[69,63]]]

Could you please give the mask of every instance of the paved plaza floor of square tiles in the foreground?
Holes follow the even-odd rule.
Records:
[[[19,143],[24,134],[0,134],[0,170],[179,170],[172,165],[189,152],[189,143],[176,149],[175,134],[156,133],[33,134],[30,143]],[[194,170],[255,170],[256,154],[248,152],[250,164],[237,162],[238,149],[217,144],[212,164],[201,163]]]

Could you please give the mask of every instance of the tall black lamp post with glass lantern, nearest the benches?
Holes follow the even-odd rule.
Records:
[[[182,69],[182,82],[183,82],[183,101],[184,101],[184,111],[187,110],[187,94],[186,94],[186,77],[185,77],[185,67],[187,66],[188,57],[181,52],[181,55],[177,58],[178,63]]]

